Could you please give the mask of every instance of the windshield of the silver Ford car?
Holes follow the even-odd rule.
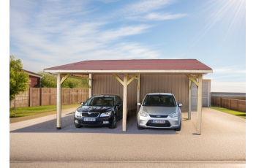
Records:
[[[177,105],[174,96],[148,95],[143,102],[143,106],[176,107]]]

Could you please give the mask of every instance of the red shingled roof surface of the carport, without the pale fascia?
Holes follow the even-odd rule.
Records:
[[[131,59],[131,60],[89,60],[55,66],[45,70],[132,70],[132,69],[186,69],[212,70],[196,59]]]

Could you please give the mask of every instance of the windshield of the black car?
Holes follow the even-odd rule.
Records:
[[[114,105],[113,97],[92,97],[85,104],[86,106],[104,106],[112,107]]]

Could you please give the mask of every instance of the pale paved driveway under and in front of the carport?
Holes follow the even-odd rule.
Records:
[[[10,124],[10,161],[246,161],[246,120],[203,108],[202,134],[196,135],[197,112],[182,121],[181,131],[138,130],[136,118],[127,131],[81,128],[73,112]],[[187,112],[182,113],[187,118]]]

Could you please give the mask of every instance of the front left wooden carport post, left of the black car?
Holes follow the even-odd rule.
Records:
[[[57,129],[61,129],[61,74],[57,75]]]

